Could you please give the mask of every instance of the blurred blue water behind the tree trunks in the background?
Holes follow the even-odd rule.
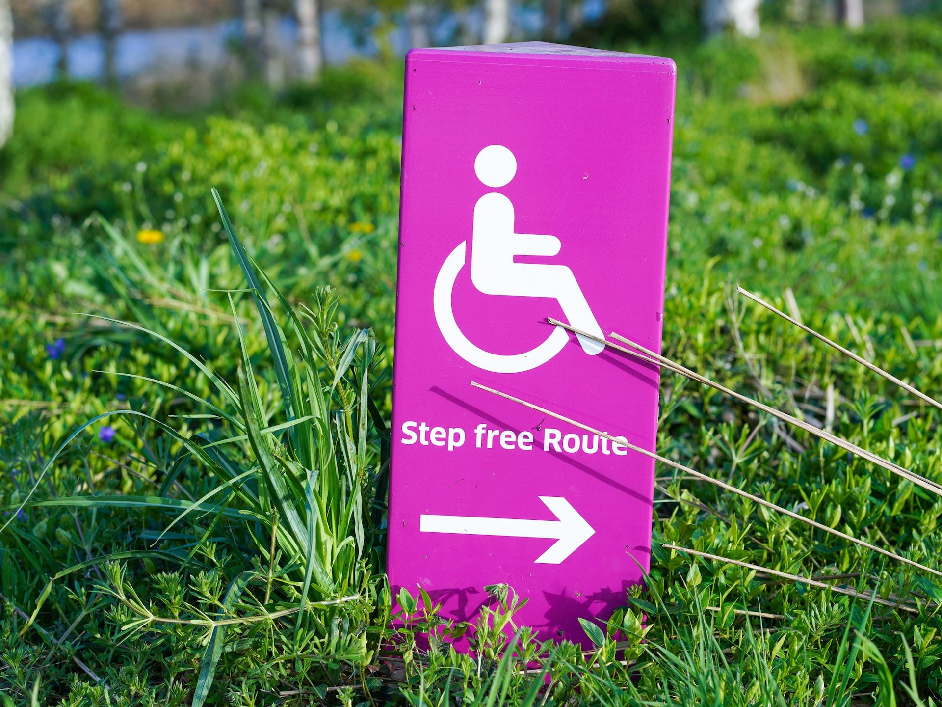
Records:
[[[605,0],[585,0],[584,13],[587,20],[601,15]],[[339,64],[354,57],[372,57],[379,51],[371,24],[378,23],[380,15],[365,18],[364,26],[345,22],[340,12],[324,13],[321,31],[324,56],[329,63]],[[540,31],[542,13],[538,8],[514,8],[512,24],[515,34],[532,36]],[[482,18],[478,9],[461,15],[447,13],[430,27],[434,44],[460,41],[462,31],[474,36],[479,33]],[[295,45],[298,27],[292,19],[284,18],[279,27],[282,45],[287,51]],[[196,66],[209,68],[218,66],[229,57],[229,47],[242,35],[242,24],[238,20],[225,20],[214,25],[190,27],[162,27],[158,29],[122,32],[118,38],[116,63],[118,73],[133,76],[154,69]],[[409,48],[405,25],[395,25],[388,40],[393,49],[404,54]],[[96,34],[76,37],[69,43],[69,73],[77,78],[101,78],[105,68],[104,45]],[[30,37],[13,42],[13,83],[15,86],[31,86],[48,83],[56,76],[59,57],[55,41],[47,37]]]

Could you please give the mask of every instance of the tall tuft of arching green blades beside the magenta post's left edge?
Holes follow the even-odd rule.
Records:
[[[190,403],[193,412],[182,416],[187,423],[205,422],[207,429],[187,435],[133,407],[90,419],[66,437],[4,526],[49,506],[132,507],[166,518],[162,530],[145,535],[153,551],[118,552],[59,572],[25,628],[53,583],[101,567],[95,604],[108,607],[122,641],[142,640],[146,633],[148,645],[172,651],[171,662],[198,661],[194,705],[210,694],[223,649],[252,647],[257,655],[263,644],[278,662],[318,656],[324,674],[318,673],[317,684],[325,674],[337,678],[343,665],[364,665],[385,624],[374,615],[389,605],[380,596],[381,515],[373,506],[374,499],[383,500],[388,468],[382,418],[370,402],[372,387],[382,384],[376,338],[368,329],[341,336],[330,288],[319,288],[310,304],[290,303],[246,252],[215,190],[214,197],[246,284],[225,292],[233,311],[235,381],[158,331],[108,320],[154,337],[202,373],[212,389],[205,397],[172,381],[120,375],[168,388]],[[239,296],[254,304],[268,345],[259,354],[274,370],[273,382],[255,372],[262,355],[251,354],[246,344],[235,306]],[[140,437],[154,470],[153,495],[33,499],[77,436],[116,418],[126,419]],[[159,458],[154,449],[170,453]],[[184,483],[187,469],[190,479],[199,478],[197,485]],[[157,562],[178,567],[154,573],[154,587],[145,593],[126,574],[124,563],[132,559],[154,570]],[[378,628],[371,632],[371,625]],[[277,667],[253,669],[277,673]]]

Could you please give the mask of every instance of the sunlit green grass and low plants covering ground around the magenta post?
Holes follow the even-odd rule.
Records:
[[[933,405],[735,287],[938,399],[942,25],[649,49],[682,79],[665,355],[942,482]],[[344,71],[184,116],[20,96],[0,156],[2,694],[932,704],[932,573],[672,464],[933,568],[942,500],[670,372],[651,574],[586,627],[596,651],[541,643],[500,585],[472,625],[416,588],[388,628],[400,68]],[[473,656],[448,649],[461,634]]]

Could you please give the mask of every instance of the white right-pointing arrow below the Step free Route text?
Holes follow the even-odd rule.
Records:
[[[557,540],[536,562],[559,565],[595,534],[569,501],[559,496],[541,496],[540,501],[557,520],[520,520],[518,518],[480,518],[476,516],[430,516],[419,518],[422,533],[501,535],[503,537],[551,537]]]

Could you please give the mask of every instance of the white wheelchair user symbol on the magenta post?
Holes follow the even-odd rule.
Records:
[[[490,145],[478,153],[474,167],[483,184],[499,189],[510,184],[517,172],[517,160],[503,145]],[[471,282],[484,294],[554,298],[572,326],[603,338],[573,271],[564,265],[513,261],[515,255],[557,255],[560,246],[560,239],[555,236],[516,233],[511,200],[497,191],[484,194],[474,208]],[[569,334],[560,326],[554,327],[543,343],[523,354],[493,354],[465,337],[455,321],[451,291],[466,260],[467,241],[463,240],[438,271],[432,296],[435,321],[456,354],[479,369],[519,373],[542,366],[562,351]],[[604,344],[592,338],[576,336],[586,354],[600,354],[605,349]]]

